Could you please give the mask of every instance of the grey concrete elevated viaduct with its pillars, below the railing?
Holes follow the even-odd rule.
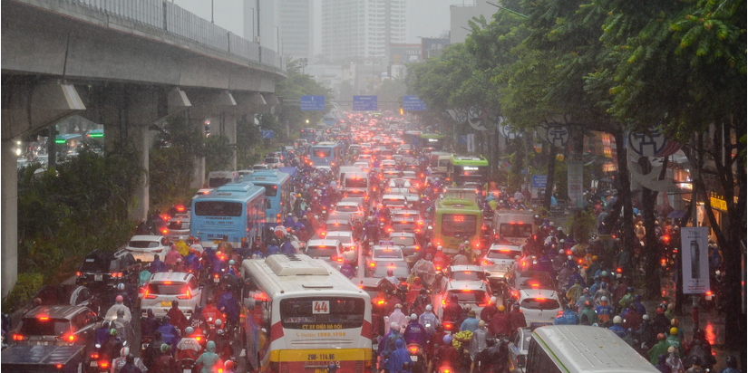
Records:
[[[49,3],[29,0],[25,3]],[[17,170],[14,141],[78,114],[128,139],[148,169],[152,124],[189,110],[196,126],[220,118],[230,143],[243,115],[268,110],[281,72],[208,46],[101,14],[58,14],[2,2],[2,295],[17,277]],[[199,159],[194,186],[204,181]],[[236,167],[236,160],[234,161]],[[148,212],[148,185],[131,212]]]

